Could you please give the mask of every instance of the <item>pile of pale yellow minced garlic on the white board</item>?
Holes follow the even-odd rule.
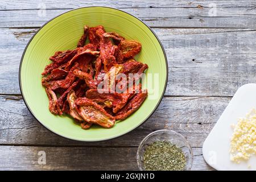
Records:
[[[230,143],[230,160],[240,163],[256,154],[256,110],[253,109],[245,118],[240,118],[233,125],[234,133]]]

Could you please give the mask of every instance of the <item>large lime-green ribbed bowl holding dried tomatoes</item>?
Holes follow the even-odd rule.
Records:
[[[82,130],[67,115],[51,114],[48,110],[45,89],[41,85],[42,76],[40,74],[44,67],[51,63],[48,59],[49,56],[53,55],[55,51],[75,48],[82,35],[84,24],[102,25],[106,31],[117,32],[126,39],[138,40],[142,43],[142,51],[136,59],[148,64],[146,77],[149,77],[151,73],[158,73],[158,76],[153,76],[155,81],[153,87],[151,86],[151,91],[155,92],[152,95],[155,96],[148,97],[133,115],[124,121],[117,122],[111,129],[93,126],[88,130]],[[20,90],[34,117],[54,133],[82,141],[115,138],[141,125],[162,100],[167,77],[166,55],[154,32],[133,15],[110,7],[81,7],[67,11],[44,24],[31,38],[24,50],[19,69]]]

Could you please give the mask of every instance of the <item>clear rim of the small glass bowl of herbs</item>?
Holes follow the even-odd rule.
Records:
[[[139,146],[137,148],[137,153],[136,153],[136,160],[137,160],[137,165],[138,165],[138,168],[140,171],[143,171],[143,168],[140,167],[139,163],[140,163],[140,160],[139,160],[139,150],[140,148],[142,147],[143,143],[149,138],[151,137],[152,135],[156,134],[156,133],[164,133],[164,132],[171,132],[171,133],[174,133],[176,135],[178,135],[180,138],[182,138],[184,140],[185,143],[187,143],[188,145],[188,148],[189,148],[189,151],[191,151],[191,165],[188,167],[188,170],[190,171],[192,166],[193,166],[193,150],[192,150],[192,147],[191,147],[191,144],[188,142],[188,140],[183,136],[181,135],[180,133],[178,133],[177,131],[174,131],[174,130],[168,130],[168,129],[162,129],[162,130],[156,130],[156,131],[153,131],[151,132],[150,134],[148,134],[145,138],[143,138],[143,140],[141,141],[141,143],[139,143]]]

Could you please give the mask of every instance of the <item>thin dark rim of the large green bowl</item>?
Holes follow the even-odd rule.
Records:
[[[152,112],[141,122],[140,125],[134,127],[133,129],[131,130],[128,130],[126,131],[125,133],[123,134],[120,134],[120,135],[117,135],[115,137],[110,137],[110,138],[105,138],[105,139],[95,139],[95,140],[84,140],[84,139],[76,139],[76,138],[71,138],[71,137],[67,137],[67,136],[64,136],[64,135],[61,135],[61,134],[58,134],[56,133],[55,131],[53,131],[52,129],[50,129],[49,127],[47,127],[46,125],[44,125],[41,121],[39,121],[38,118],[36,118],[35,114],[33,113],[32,109],[30,108],[30,106],[28,106],[27,104],[27,101],[26,101],[26,98],[24,97],[24,94],[23,94],[23,90],[22,90],[22,81],[21,81],[21,68],[22,68],[22,63],[23,63],[23,58],[24,58],[24,55],[27,51],[27,48],[28,46],[30,45],[30,43],[32,42],[32,40],[34,39],[35,35],[38,34],[38,32],[40,30],[42,30],[42,28],[44,26],[46,26],[49,22],[51,22],[53,19],[55,18],[58,18],[59,16],[61,15],[64,15],[66,13],[69,13],[70,11],[75,11],[75,10],[79,10],[79,9],[86,9],[86,8],[93,8],[93,7],[102,7],[102,8],[106,8],[106,9],[113,9],[113,10],[117,10],[117,11],[121,11],[123,13],[126,13],[130,16],[133,16],[134,18],[138,19],[140,22],[142,22],[151,32],[152,34],[155,36],[156,40],[158,40],[158,43],[160,44],[161,48],[162,48],[162,51],[163,51],[163,55],[164,55],[164,59],[166,61],[166,81],[165,81],[165,84],[164,84],[164,89],[163,89],[163,93],[162,93],[162,96],[160,97],[158,103],[156,104],[155,108],[152,110]],[[136,129],[137,127],[141,126],[144,122],[147,121],[148,118],[151,117],[151,115],[155,112],[155,110],[158,108],[160,102],[163,100],[163,96],[164,96],[164,93],[166,92],[166,87],[167,87],[167,81],[168,81],[168,60],[167,60],[167,56],[166,56],[166,52],[164,51],[164,47],[162,45],[162,43],[160,42],[158,36],[155,34],[155,32],[146,24],[144,23],[141,19],[137,18],[136,16],[130,14],[130,13],[127,13],[126,11],[123,11],[123,10],[119,10],[117,8],[114,8],[114,7],[109,7],[109,6],[83,6],[83,7],[78,7],[76,9],[72,9],[72,10],[68,10],[68,11],[65,11],[64,13],[61,13],[51,19],[49,19],[46,23],[43,24],[43,26],[41,26],[36,32],[35,34],[31,37],[31,39],[28,41],[27,43],[27,46],[24,48],[24,51],[22,53],[22,57],[20,59],[20,64],[19,64],[19,89],[20,89],[20,93],[22,94],[22,98],[23,98],[23,101],[27,107],[27,109],[30,111],[30,113],[32,114],[32,116],[36,119],[36,121],[38,121],[41,125],[43,125],[47,130],[51,131],[52,133],[56,134],[56,135],[59,135],[60,137],[63,137],[63,138],[66,138],[66,139],[72,139],[72,140],[77,140],[77,141],[81,141],[81,142],[99,142],[99,141],[104,141],[104,140],[109,140],[109,139],[113,139],[113,138],[118,138],[118,137],[121,137],[122,135],[125,135],[127,133],[130,133],[130,131],[133,131],[134,129]]]

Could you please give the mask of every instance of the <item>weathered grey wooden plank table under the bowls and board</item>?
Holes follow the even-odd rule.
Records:
[[[156,112],[129,134],[104,142],[51,133],[20,96],[19,62],[28,40],[47,20],[81,6],[112,6],[138,16],[168,57],[168,86]],[[159,129],[188,139],[192,169],[212,169],[202,155],[205,138],[238,87],[256,82],[255,0],[2,0],[0,38],[0,169],[138,169],[138,144]],[[46,164],[39,160],[44,152]]]

